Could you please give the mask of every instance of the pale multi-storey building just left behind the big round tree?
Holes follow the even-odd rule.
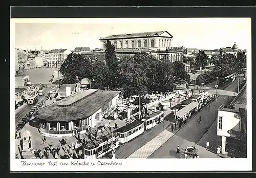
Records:
[[[67,49],[55,49],[49,51],[49,68],[60,68],[67,56],[72,53]]]

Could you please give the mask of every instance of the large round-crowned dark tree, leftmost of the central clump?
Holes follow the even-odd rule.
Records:
[[[80,54],[71,53],[61,64],[59,71],[63,75],[63,83],[76,83],[83,78],[89,78],[91,64]]]

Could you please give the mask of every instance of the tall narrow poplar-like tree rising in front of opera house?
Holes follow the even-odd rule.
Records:
[[[108,40],[105,49],[106,65],[109,67],[108,83],[111,87],[118,85],[118,59],[116,57],[115,46]]]

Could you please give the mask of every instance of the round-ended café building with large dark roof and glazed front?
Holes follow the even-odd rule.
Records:
[[[39,131],[47,137],[70,137],[74,131],[86,132],[102,121],[102,116],[117,104],[118,91],[90,89],[56,101],[34,113]]]

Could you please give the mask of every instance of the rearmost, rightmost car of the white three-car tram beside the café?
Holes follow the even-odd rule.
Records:
[[[141,119],[144,122],[145,130],[155,127],[163,121],[163,112],[156,112]]]

